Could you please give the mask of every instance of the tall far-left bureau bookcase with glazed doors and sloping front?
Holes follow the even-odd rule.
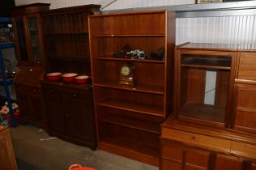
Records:
[[[11,10],[15,55],[19,62],[14,83],[20,117],[41,127],[46,127],[39,83],[46,66],[41,14],[49,11],[49,6],[35,3]]]

